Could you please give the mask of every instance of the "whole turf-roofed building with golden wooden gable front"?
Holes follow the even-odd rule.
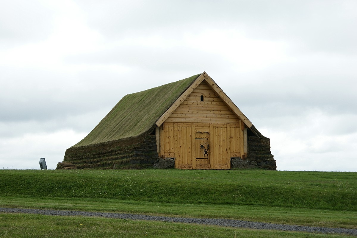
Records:
[[[205,72],[124,96],[63,162],[79,169],[170,167],[166,162],[276,169],[270,140]]]

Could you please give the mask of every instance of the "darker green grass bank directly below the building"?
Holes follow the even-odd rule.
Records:
[[[357,211],[357,173],[176,169],[1,170],[0,194]]]

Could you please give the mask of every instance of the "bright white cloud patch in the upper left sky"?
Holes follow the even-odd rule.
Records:
[[[75,4],[61,1],[51,8],[55,8],[56,13],[52,16],[49,34],[39,41],[4,49],[1,64],[56,70],[63,67],[65,56],[100,48],[101,35],[86,25],[84,13]]]

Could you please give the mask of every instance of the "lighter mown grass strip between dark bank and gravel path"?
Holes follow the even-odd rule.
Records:
[[[1,207],[147,214],[186,218],[225,218],[313,227],[355,228],[357,212],[257,205],[175,204],[108,198],[0,196]]]

